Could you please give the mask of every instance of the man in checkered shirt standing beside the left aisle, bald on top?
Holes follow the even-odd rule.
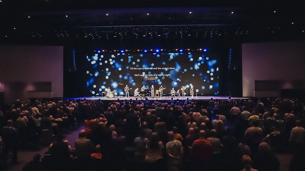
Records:
[[[90,159],[92,144],[90,139],[86,139],[85,130],[81,130],[74,143],[77,159]]]

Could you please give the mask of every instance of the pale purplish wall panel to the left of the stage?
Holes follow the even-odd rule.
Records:
[[[63,46],[0,45],[0,82],[8,103],[27,100],[27,91],[63,97]]]

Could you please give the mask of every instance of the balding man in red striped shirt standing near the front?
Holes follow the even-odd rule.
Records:
[[[206,140],[205,131],[199,132],[199,139],[195,140],[192,147],[189,148],[191,149],[194,170],[209,169],[213,153],[211,143]]]

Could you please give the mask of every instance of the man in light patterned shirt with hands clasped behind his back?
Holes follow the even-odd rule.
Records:
[[[174,132],[168,132],[169,142],[166,143],[166,152],[168,155],[167,166],[176,167],[178,170],[181,169],[183,148],[182,143],[179,140],[175,140]]]

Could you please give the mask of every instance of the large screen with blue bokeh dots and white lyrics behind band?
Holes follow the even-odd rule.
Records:
[[[86,56],[84,74],[86,92],[99,96],[105,88],[117,89],[124,94],[127,84],[132,88],[160,85],[166,87],[163,94],[172,87],[194,86],[197,95],[218,94],[219,63],[208,53],[92,53]],[[135,69],[136,68],[136,69]],[[189,89],[188,89],[189,95]]]

